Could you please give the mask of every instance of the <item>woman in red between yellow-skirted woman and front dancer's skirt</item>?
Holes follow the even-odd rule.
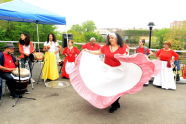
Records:
[[[63,78],[69,78],[69,73],[72,70],[75,59],[79,53],[80,51],[78,50],[78,48],[73,46],[73,41],[69,40],[68,47],[66,47],[62,52],[62,54],[65,55],[64,65],[62,67],[62,74],[61,74]]]

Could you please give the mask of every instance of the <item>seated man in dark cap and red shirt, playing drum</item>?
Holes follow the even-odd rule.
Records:
[[[3,52],[0,52],[0,77],[6,80],[10,96],[16,97],[15,84],[11,72],[16,68],[16,58],[13,56],[14,45],[7,44]]]

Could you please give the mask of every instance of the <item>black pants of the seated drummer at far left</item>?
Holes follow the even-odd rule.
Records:
[[[15,95],[15,82],[14,82],[13,77],[10,74],[11,72],[1,72],[0,76],[1,78],[6,80],[6,84],[10,91],[10,95],[14,96]]]

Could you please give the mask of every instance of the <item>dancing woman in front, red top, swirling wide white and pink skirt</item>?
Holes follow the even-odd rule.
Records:
[[[83,50],[70,73],[73,88],[93,106],[109,106],[113,113],[120,108],[124,94],[142,89],[154,73],[154,64],[143,54],[126,55],[120,35],[110,33],[109,40],[99,51]],[[99,55],[104,55],[104,61]]]

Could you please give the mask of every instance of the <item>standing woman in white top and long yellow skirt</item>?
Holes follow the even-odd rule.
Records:
[[[56,42],[55,35],[50,33],[44,43],[45,58],[42,79],[56,80],[59,78],[56,54],[59,53],[60,46]]]

